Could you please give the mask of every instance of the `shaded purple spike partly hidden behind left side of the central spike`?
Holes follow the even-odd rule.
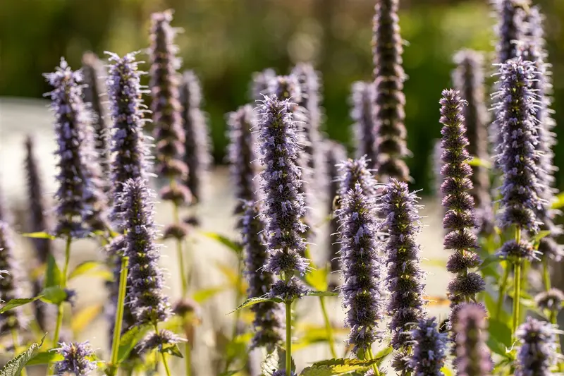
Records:
[[[268,260],[264,222],[259,217],[259,207],[255,201],[243,202],[241,218],[241,234],[243,234],[243,250],[245,252],[245,275],[249,281],[247,295],[258,298],[269,292],[274,283],[274,275],[263,271]],[[273,302],[255,304],[251,307],[255,313],[252,325],[255,335],[251,347],[266,346],[269,351],[282,341],[283,317],[280,305]]]

